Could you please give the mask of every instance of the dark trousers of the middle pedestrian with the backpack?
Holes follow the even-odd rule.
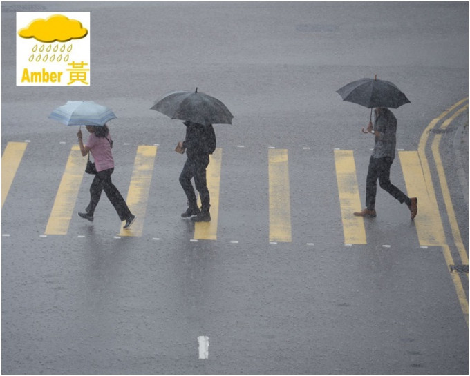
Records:
[[[194,192],[191,179],[200,195],[203,212],[208,212],[210,207],[209,190],[207,189],[206,168],[209,165],[209,155],[201,155],[187,159],[180,174],[180,184],[185,191],[189,206],[196,206],[196,192]]]

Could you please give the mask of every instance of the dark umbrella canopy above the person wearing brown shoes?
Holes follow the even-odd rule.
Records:
[[[360,104],[367,108],[399,108],[411,103],[393,83],[381,79],[359,79],[343,86],[337,93],[344,101]]]

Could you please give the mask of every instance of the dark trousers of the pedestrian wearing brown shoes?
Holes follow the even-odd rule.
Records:
[[[379,180],[380,188],[390,193],[393,197],[395,197],[395,199],[400,201],[401,204],[404,202],[406,202],[407,205],[411,204],[409,197],[406,196],[400,189],[391,184],[390,168],[392,163],[393,159],[390,157],[370,157],[366,186],[366,208],[368,208],[368,210],[375,210],[377,179]]]

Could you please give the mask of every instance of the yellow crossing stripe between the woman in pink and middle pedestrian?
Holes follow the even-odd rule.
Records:
[[[153,165],[157,155],[157,146],[140,145],[135,155],[134,167],[131,177],[126,203],[132,214],[137,217],[129,229],[122,229],[120,236],[140,237],[144,229],[144,218],[149,201],[150,184]]]

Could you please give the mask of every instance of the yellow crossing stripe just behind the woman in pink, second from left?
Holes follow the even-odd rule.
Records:
[[[72,146],[44,232],[46,235],[66,235],[80,184],[82,184],[85,166],[86,158],[82,157],[79,146]]]

